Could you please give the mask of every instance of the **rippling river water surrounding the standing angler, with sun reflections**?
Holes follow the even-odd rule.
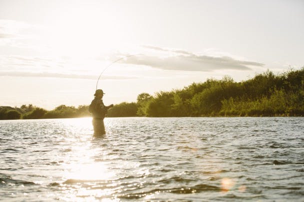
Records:
[[[304,118],[104,123],[0,121],[0,200],[304,200]]]

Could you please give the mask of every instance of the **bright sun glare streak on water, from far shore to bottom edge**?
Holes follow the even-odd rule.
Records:
[[[102,139],[94,142],[91,118],[61,119],[60,122],[65,129],[62,136],[70,143],[63,151],[66,153],[59,174],[63,194],[60,200],[81,201],[79,199],[85,198],[86,201],[98,201],[96,198],[102,198],[106,201],[104,197],[115,193],[108,186],[112,186],[111,181],[117,173],[111,169],[112,162],[103,159]]]

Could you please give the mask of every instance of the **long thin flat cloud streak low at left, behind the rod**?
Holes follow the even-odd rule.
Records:
[[[42,78],[69,78],[69,79],[90,79],[96,80],[98,75],[88,75],[88,74],[65,74],[65,73],[54,73],[54,72],[17,72],[17,71],[0,71],[1,76],[13,76],[13,77],[42,77]],[[126,77],[126,76],[102,76],[100,79],[134,79],[136,77]],[[100,80],[99,79],[99,80]]]

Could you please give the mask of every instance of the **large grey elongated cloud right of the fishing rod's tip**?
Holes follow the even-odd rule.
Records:
[[[164,70],[179,71],[213,71],[213,70],[251,70],[250,66],[264,66],[254,61],[237,60],[228,56],[213,57],[195,54],[184,50],[168,49],[156,46],[144,45],[147,49],[162,51],[165,57],[155,55],[137,55],[120,60],[120,63],[146,65]]]

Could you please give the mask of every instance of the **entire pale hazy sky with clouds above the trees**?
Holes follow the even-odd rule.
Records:
[[[304,66],[303,0],[0,0],[0,106],[106,105]]]

